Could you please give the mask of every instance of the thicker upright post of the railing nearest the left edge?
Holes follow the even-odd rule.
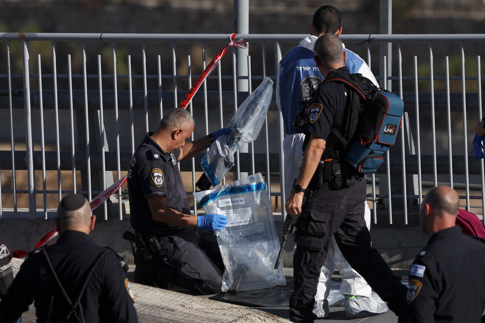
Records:
[[[32,153],[32,122],[30,106],[30,68],[29,68],[29,42],[22,40],[22,59],[24,72],[24,106],[25,106],[25,143],[27,150],[27,184],[29,194],[29,218],[37,217],[35,206],[35,182],[33,170],[33,153]]]

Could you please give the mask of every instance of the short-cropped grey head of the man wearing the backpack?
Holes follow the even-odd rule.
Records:
[[[333,68],[343,63],[343,46],[339,37],[332,33],[325,33],[315,42],[315,56],[324,67]]]

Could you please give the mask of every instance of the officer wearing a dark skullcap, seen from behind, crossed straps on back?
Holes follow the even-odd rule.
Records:
[[[61,200],[59,240],[22,264],[0,302],[0,322],[16,322],[32,300],[37,322],[138,322],[126,263],[88,236],[95,220],[81,195]]]

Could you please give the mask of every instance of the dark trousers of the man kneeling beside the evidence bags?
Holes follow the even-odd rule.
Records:
[[[221,291],[224,262],[216,236],[200,228],[184,228],[160,239],[162,250],[145,261],[153,281],[167,282],[203,294]]]

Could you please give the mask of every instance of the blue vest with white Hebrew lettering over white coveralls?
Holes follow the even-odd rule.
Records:
[[[359,73],[364,64],[362,59],[350,50],[344,49],[344,51],[347,52],[345,66],[349,73]],[[309,97],[308,87],[312,86],[315,89],[323,81],[313,56],[315,53],[312,50],[297,46],[292,48],[280,62],[279,101],[287,135],[296,134],[292,123],[300,111],[298,108],[301,107],[300,100],[302,97]]]

